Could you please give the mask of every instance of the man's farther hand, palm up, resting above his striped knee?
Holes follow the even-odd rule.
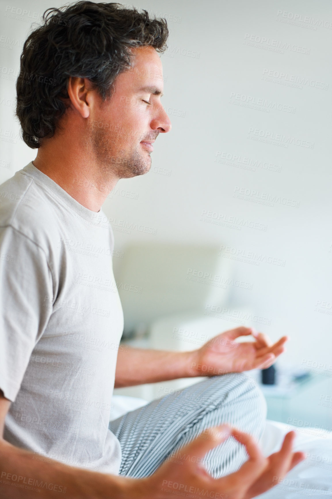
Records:
[[[238,343],[235,338],[252,334],[255,341]],[[288,340],[283,336],[274,345],[263,333],[251,327],[240,326],[225,331],[206,342],[201,348],[190,352],[192,376],[215,376],[218,374],[266,369],[285,350]]]

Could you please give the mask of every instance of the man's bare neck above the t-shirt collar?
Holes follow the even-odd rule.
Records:
[[[100,166],[83,144],[74,149],[75,138],[72,139],[66,141],[62,136],[61,141],[55,137],[45,140],[33,165],[82,206],[99,212],[119,178]]]

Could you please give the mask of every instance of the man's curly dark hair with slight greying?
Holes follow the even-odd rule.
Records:
[[[46,9],[42,21],[23,45],[16,82],[16,116],[32,149],[54,135],[66,112],[70,76],[88,78],[105,101],[131,67],[130,48],[151,45],[163,53],[168,37],[165,18],[120,3],[78,1]]]

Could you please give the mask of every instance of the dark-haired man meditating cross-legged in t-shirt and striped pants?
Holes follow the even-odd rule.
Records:
[[[149,171],[152,144],[170,130],[158,54],[167,35],[146,11],[80,1],[49,10],[24,44],[16,112],[38,153],[2,184],[2,497],[251,498],[304,459],[294,432],[262,456],[264,401],[241,374],[271,365],[286,337],[271,346],[240,327],[193,352],[118,351],[101,206],[119,179]],[[82,272],[112,285],[83,286]],[[255,342],[234,341],[250,334]],[[114,386],[215,372],[109,426]]]

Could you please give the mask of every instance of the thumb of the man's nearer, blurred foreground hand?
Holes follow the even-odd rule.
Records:
[[[176,457],[178,464],[183,464],[186,461],[199,463],[208,451],[227,440],[231,433],[232,428],[227,424],[207,428],[194,440],[178,449],[172,457]]]

